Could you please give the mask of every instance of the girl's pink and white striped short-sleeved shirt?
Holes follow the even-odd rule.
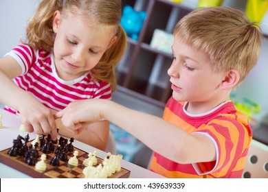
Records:
[[[53,53],[18,45],[6,55],[12,56],[21,66],[21,75],[14,78],[14,83],[48,108],[58,111],[74,100],[111,99],[111,85],[93,80],[90,71],[76,80],[60,79],[56,73]],[[5,109],[18,114],[8,106]]]

